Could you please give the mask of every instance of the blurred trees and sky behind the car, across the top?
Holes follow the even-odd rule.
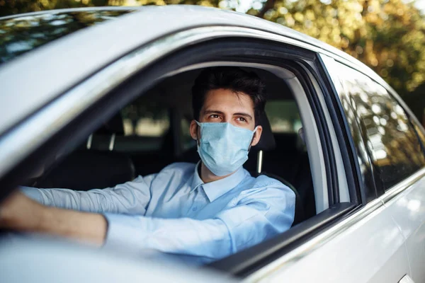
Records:
[[[380,74],[425,125],[425,0],[0,0],[0,16],[53,8],[168,4],[249,13],[344,50]]]

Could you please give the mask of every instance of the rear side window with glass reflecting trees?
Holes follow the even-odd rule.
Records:
[[[383,86],[342,64],[339,74],[360,118],[365,147],[387,190],[425,165],[418,136],[402,106]]]

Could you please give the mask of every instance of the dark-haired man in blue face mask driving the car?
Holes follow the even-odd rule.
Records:
[[[173,163],[103,190],[23,187],[0,207],[0,227],[191,255],[203,262],[289,229],[293,191],[242,168],[261,137],[256,122],[266,103],[263,82],[238,68],[205,69],[192,95],[190,132],[198,144],[198,164]]]

